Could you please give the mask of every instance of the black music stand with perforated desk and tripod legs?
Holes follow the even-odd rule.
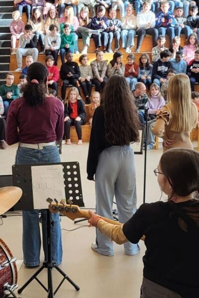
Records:
[[[14,210],[34,210],[38,208],[34,208],[34,188],[32,185],[32,170],[35,170],[35,167],[40,166],[42,169],[47,169],[50,172],[49,175],[52,175],[52,170],[55,170],[57,166],[60,169],[60,165],[62,165],[63,169],[63,177],[65,184],[65,195],[66,199],[73,200],[74,204],[82,207],[84,206],[83,196],[82,196],[82,185],[81,185],[81,177],[80,177],[80,166],[78,162],[59,162],[59,163],[51,163],[51,164],[32,164],[32,165],[13,165],[12,166],[12,177],[13,177],[13,185],[18,186],[23,190],[23,195],[18,203],[14,206]],[[39,168],[38,168],[39,169]],[[51,171],[50,171],[51,170]],[[39,177],[40,178],[40,177]],[[41,178],[42,179],[42,178]],[[41,182],[42,184],[42,182]],[[44,186],[44,183],[43,183]],[[48,181],[46,181],[45,188],[48,188]],[[44,189],[45,191],[45,189]],[[46,201],[47,198],[44,198]],[[54,199],[54,198],[53,198]],[[46,205],[48,203],[46,202]],[[43,206],[43,205],[42,205]],[[46,209],[46,208],[41,208]],[[18,294],[20,294],[34,279],[40,284],[40,286],[48,293],[48,298],[54,298],[54,295],[57,293],[61,285],[65,280],[67,280],[77,291],[80,290],[80,287],[77,286],[68,276],[62,271],[56,263],[52,262],[52,247],[51,247],[51,228],[53,222],[50,220],[50,211],[47,209],[47,262],[43,262],[41,268],[39,268],[35,274],[31,276],[31,278],[20,288],[18,289]],[[48,270],[48,288],[46,288],[41,281],[37,278],[38,274],[44,269]],[[58,285],[57,289],[53,290],[53,276],[52,269],[55,268],[62,276],[63,279]]]

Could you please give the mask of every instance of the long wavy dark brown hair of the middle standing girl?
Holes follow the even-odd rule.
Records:
[[[105,138],[113,145],[139,141],[138,113],[132,92],[123,76],[110,77],[103,91]]]

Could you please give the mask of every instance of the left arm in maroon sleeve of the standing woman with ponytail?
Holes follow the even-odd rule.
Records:
[[[18,119],[16,102],[16,100],[13,100],[10,103],[7,114],[5,141],[9,146],[19,142],[19,136],[17,131]]]

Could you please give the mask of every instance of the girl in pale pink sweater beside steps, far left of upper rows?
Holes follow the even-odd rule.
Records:
[[[18,40],[21,34],[24,33],[24,26],[24,22],[20,18],[20,12],[14,10],[12,12],[12,21],[9,25],[11,33],[11,55],[16,54],[16,40]]]

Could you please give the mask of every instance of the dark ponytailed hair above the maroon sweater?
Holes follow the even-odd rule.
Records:
[[[46,66],[40,62],[34,62],[28,67],[27,84],[24,86],[23,97],[30,106],[34,107],[44,101],[47,75]],[[32,83],[33,79],[38,80],[39,84]]]

